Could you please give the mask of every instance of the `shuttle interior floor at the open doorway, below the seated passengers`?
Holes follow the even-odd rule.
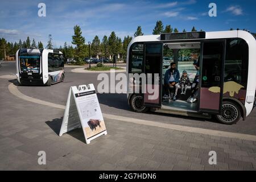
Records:
[[[184,110],[184,111],[197,111],[197,102],[189,103],[182,100],[163,100],[162,102],[163,109],[173,109],[173,110]]]

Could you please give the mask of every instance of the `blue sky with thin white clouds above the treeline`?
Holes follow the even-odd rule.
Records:
[[[38,16],[38,3],[46,4],[46,17]],[[217,17],[209,17],[209,3],[217,5]],[[220,31],[246,28],[256,32],[255,0],[183,0],[183,1],[108,1],[108,0],[1,0],[0,37],[9,42],[25,40],[27,36],[44,43],[52,34],[57,47],[71,44],[73,26],[79,24],[86,42],[95,35],[100,39],[115,31],[117,36],[133,36],[137,26],[144,35],[152,34],[156,20],[164,26]]]

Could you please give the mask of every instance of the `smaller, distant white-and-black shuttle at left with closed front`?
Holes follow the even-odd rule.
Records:
[[[48,85],[64,80],[63,53],[52,49],[19,49],[16,76],[20,85]]]

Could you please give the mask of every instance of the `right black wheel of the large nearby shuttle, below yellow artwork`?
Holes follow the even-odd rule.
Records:
[[[216,118],[225,125],[233,125],[241,119],[240,107],[234,102],[223,101],[221,115],[216,115]]]

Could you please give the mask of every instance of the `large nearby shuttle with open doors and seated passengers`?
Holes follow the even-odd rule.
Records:
[[[169,57],[172,69],[163,66],[163,57]],[[159,77],[154,80],[148,73]],[[127,98],[134,111],[215,115],[232,125],[245,120],[255,105],[256,40],[240,30],[137,36],[127,49],[127,75]],[[181,76],[189,78],[185,92]],[[150,98],[155,93],[150,86],[158,97]]]

